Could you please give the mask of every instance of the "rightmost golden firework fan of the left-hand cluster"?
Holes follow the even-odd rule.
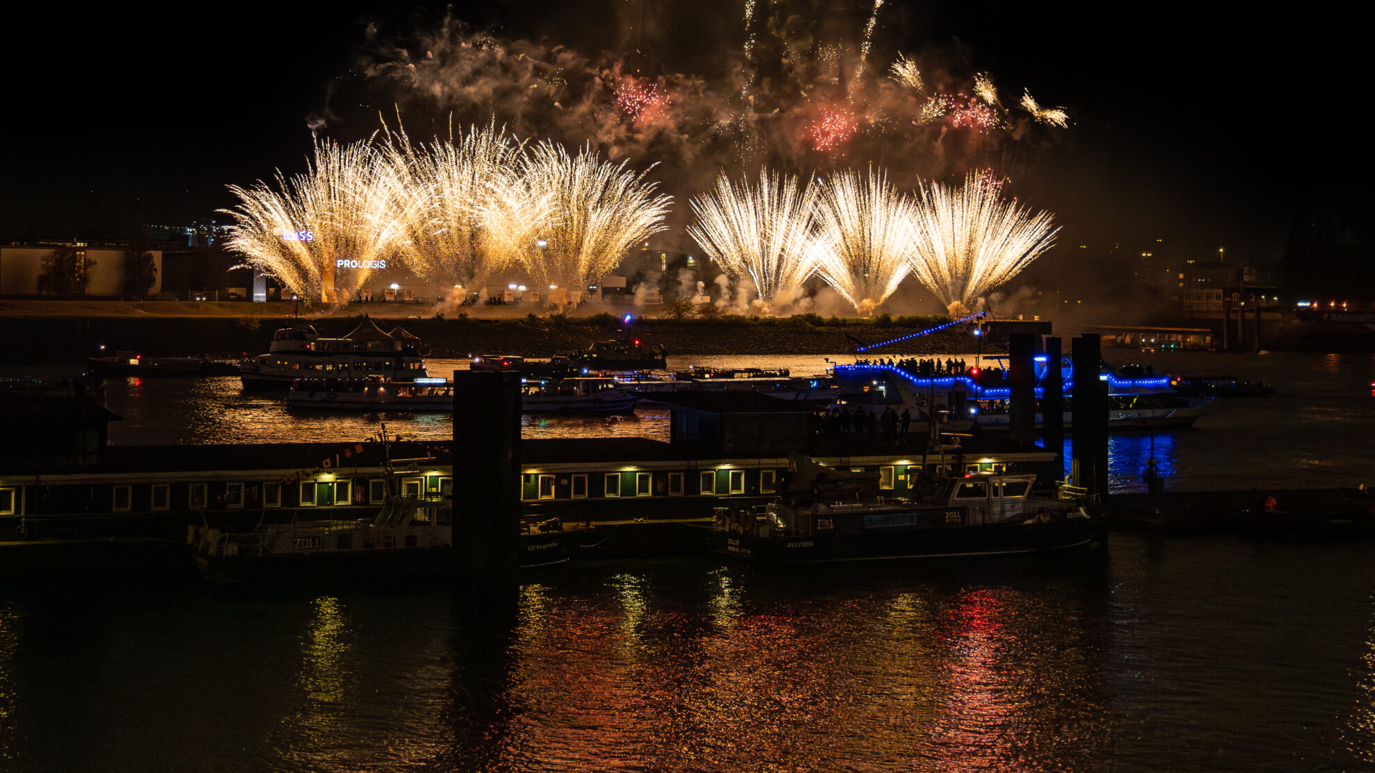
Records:
[[[528,150],[518,170],[494,187],[498,194],[485,222],[507,229],[498,239],[506,254],[561,306],[576,306],[631,247],[663,231],[670,202],[654,196],[645,173],[624,162],[600,161],[591,148],[569,155],[550,141]],[[503,216],[512,217],[506,225]]]

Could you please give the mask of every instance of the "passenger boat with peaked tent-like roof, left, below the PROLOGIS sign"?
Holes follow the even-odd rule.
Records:
[[[301,379],[362,379],[389,382],[428,378],[419,338],[396,328],[385,332],[364,317],[342,338],[320,338],[314,327],[296,324],[272,334],[267,354],[239,364],[243,389],[292,389]]]

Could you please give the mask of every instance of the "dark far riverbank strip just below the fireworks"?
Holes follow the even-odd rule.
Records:
[[[370,309],[371,310],[371,309]],[[283,316],[117,316],[117,317],[4,317],[0,334],[11,357],[19,361],[59,361],[104,351],[129,350],[150,357],[209,356],[238,358],[267,351],[272,331],[289,324]],[[308,321],[323,336],[352,331],[362,316],[316,317]],[[550,357],[586,349],[594,341],[624,338],[620,317],[516,317],[516,319],[377,319],[382,330],[403,327],[424,342],[432,357],[470,354],[518,354]],[[726,317],[719,320],[639,319],[631,335],[648,346],[664,346],[671,354],[833,354],[848,351],[857,341],[873,343],[910,335],[939,319],[899,317],[903,324],[880,317],[874,321],[799,316]],[[906,341],[894,354],[953,354],[971,351],[975,339],[962,325]],[[993,353],[993,347],[984,351]]]

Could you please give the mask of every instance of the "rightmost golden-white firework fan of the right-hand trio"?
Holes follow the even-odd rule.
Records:
[[[1050,213],[1031,214],[971,173],[960,188],[923,185],[914,207],[912,273],[950,313],[1006,283],[1055,243]]]

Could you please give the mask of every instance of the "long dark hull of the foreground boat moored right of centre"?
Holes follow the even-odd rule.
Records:
[[[767,564],[808,564],[891,559],[1013,556],[1084,548],[1107,534],[1101,518],[1064,518],[1046,523],[989,523],[859,534],[818,533],[769,538],[714,531],[714,552]]]

